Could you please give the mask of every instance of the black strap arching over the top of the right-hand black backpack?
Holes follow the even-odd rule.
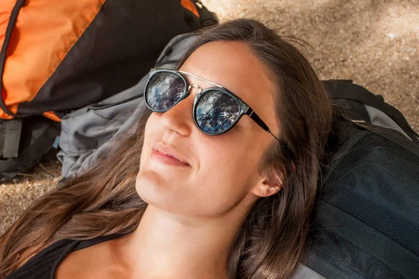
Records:
[[[397,110],[397,108],[385,103],[383,96],[372,94],[372,92],[369,92],[364,87],[353,84],[351,80],[324,80],[323,84],[328,89],[328,92],[333,99],[358,101],[367,106],[372,106],[373,108],[381,110],[399,125],[412,141],[419,143],[419,134],[416,133],[416,131],[413,131],[406,118],[404,118],[403,114]],[[362,117],[365,117],[365,113],[362,113],[364,110],[365,113],[367,113],[366,108],[362,108],[358,112],[364,115]],[[365,120],[370,122],[369,117],[365,118]]]

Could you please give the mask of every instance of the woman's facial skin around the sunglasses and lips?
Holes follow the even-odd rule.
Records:
[[[249,104],[259,117],[279,135],[274,113],[275,85],[267,70],[240,42],[212,42],[198,48],[180,69],[226,87]],[[203,80],[184,75],[189,84],[203,90],[214,87]],[[204,134],[193,122],[191,88],[186,99],[166,113],[152,113],[145,127],[136,189],[149,204],[171,213],[188,216],[223,215],[244,198],[274,194],[258,173],[258,162],[275,138],[243,115],[224,134]],[[177,150],[188,166],[165,164],[152,156],[156,144]],[[249,197],[249,196],[248,196]]]

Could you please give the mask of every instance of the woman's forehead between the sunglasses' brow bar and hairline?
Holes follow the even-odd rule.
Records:
[[[276,87],[267,77],[266,66],[245,43],[205,43],[186,59],[180,70],[226,87],[240,96],[270,129],[276,131],[273,103]],[[203,89],[213,86],[191,76],[185,78]],[[249,117],[243,118],[246,119],[244,121],[252,121],[247,119]]]

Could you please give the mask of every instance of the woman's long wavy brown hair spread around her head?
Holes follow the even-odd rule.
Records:
[[[258,168],[282,189],[253,204],[235,237],[229,278],[291,278],[302,261],[316,190],[332,125],[332,103],[316,72],[293,43],[257,20],[231,20],[198,31],[179,62],[212,41],[240,41],[267,66],[277,85],[274,96],[281,141],[274,141]],[[45,194],[0,238],[0,278],[47,245],[64,238],[87,240],[138,227],[147,203],[135,191],[135,177],[150,112],[135,132],[82,175]],[[292,154],[292,158],[289,156]]]

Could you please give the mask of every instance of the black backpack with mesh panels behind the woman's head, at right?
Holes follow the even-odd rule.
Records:
[[[419,136],[382,96],[324,83],[345,117],[329,139],[305,274],[419,278]]]

